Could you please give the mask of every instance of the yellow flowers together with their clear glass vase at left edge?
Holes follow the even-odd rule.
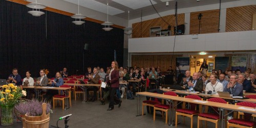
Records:
[[[26,96],[26,91],[14,86],[13,83],[2,87],[0,90],[1,125],[13,124],[13,108],[22,96]]]

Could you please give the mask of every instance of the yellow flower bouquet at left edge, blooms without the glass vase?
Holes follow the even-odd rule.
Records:
[[[14,86],[13,83],[4,85],[0,91],[0,104],[1,105],[14,105],[18,103],[19,98],[26,96],[27,92],[22,88]]]

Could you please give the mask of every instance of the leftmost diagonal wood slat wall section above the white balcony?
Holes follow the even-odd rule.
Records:
[[[172,35],[174,35],[174,26],[175,25],[175,15],[163,16],[165,21],[169,23],[172,28]],[[185,23],[185,14],[178,14],[178,25],[183,25]],[[150,20],[145,20],[142,23],[133,24],[133,38],[140,37],[150,37],[150,28],[160,26],[162,30],[168,29],[168,25],[162,20],[162,18],[155,18]]]

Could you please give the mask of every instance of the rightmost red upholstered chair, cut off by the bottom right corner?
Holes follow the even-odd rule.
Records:
[[[256,103],[252,103],[252,102],[240,102],[240,103],[236,103],[236,105],[240,105],[240,106],[248,106],[251,108],[255,108],[256,107]],[[244,113],[244,117],[245,119],[230,119],[227,122],[227,127],[233,126],[233,127],[253,127],[256,125],[256,122],[254,121],[250,121],[251,120],[251,114],[249,113]]]

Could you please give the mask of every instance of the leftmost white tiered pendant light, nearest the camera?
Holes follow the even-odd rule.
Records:
[[[45,9],[46,6],[37,3],[37,1],[35,1],[35,3],[29,3],[26,6],[33,9],[33,11],[28,11],[28,13],[33,16],[41,16],[45,14],[45,12],[41,12],[40,9]]]

